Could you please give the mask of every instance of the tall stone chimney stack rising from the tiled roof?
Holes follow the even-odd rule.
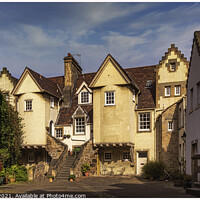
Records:
[[[68,53],[68,56],[64,57],[64,105],[65,107],[71,106],[72,92],[74,84],[78,75],[82,73],[82,68],[74,57]]]

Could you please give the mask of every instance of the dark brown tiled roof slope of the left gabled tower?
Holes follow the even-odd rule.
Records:
[[[58,98],[62,96],[62,93],[60,91],[60,88],[58,87],[58,84],[49,80],[48,78],[45,78],[41,74],[38,74],[37,72],[33,71],[32,69],[28,67],[27,69],[32,74],[32,76],[34,77],[36,82],[39,84],[39,86],[42,88],[42,90]]]

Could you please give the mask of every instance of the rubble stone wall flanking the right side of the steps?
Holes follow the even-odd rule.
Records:
[[[81,154],[81,157],[76,164],[74,168],[74,174],[77,177],[82,176],[81,172],[81,165],[84,163],[90,164],[90,175],[96,175],[97,174],[97,151],[93,149],[92,146],[92,140],[88,141],[84,145],[82,145],[83,152]]]

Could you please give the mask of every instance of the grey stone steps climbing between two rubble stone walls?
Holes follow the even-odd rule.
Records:
[[[70,168],[72,168],[72,164],[74,162],[75,157],[68,154],[68,156],[63,161],[62,168],[56,176],[57,180],[67,180],[70,175]]]

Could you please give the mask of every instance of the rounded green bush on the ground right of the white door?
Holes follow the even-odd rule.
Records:
[[[160,178],[163,175],[165,165],[159,161],[149,161],[142,168],[145,178],[153,177],[154,179]]]

